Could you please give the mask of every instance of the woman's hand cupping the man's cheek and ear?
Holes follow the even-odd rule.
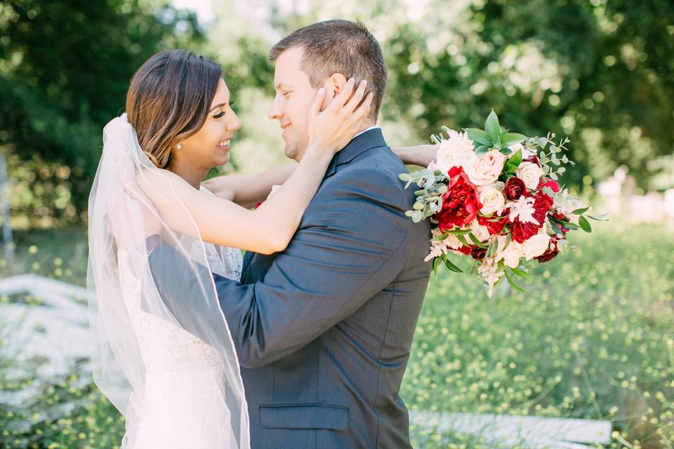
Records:
[[[366,87],[366,80],[362,80],[355,88],[355,80],[349,79],[323,111],[320,108],[325,99],[325,89],[319,89],[309,108],[310,147],[336,153],[364,128],[374,96],[372,92],[365,95]]]

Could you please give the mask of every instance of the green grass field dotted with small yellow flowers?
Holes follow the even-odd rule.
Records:
[[[612,448],[674,448],[673,231],[602,223],[578,234],[582,250],[536,267],[520,281],[527,293],[503,283],[489,300],[477,276],[449,271],[430,282],[402,387],[409,408],[610,420]],[[84,283],[84,233],[19,234],[0,276],[21,272]],[[0,446],[117,448],[124,421],[95,388],[72,387],[82,375],[29,410],[0,406],[0,429],[32,423],[0,430]],[[41,415],[74,399],[66,418]],[[487,448],[432,429],[411,436],[417,448]]]

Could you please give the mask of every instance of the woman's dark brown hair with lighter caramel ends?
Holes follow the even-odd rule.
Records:
[[[133,74],[126,93],[128,123],[147,157],[159,168],[173,149],[204,125],[223,69],[184,50],[161,51]]]

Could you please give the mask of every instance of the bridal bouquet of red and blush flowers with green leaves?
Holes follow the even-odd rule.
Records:
[[[588,218],[602,220],[586,215],[590,208],[557,184],[564,165],[574,166],[563,154],[568,139],[501,132],[494,111],[484,130],[442,130],[446,135],[431,137],[440,144],[436,161],[399,176],[406,188],[418,186],[406,215],[433,225],[426,260],[436,274],[442,263],[461,272],[447,258],[457,253],[475,260],[473,272],[482,276],[487,296],[503,279],[523,292],[515,276],[528,275],[527,261],[552,260],[567,246],[569,231],[592,232]]]

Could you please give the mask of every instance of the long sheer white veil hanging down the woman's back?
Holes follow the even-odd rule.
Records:
[[[105,126],[88,203],[94,380],[126,417],[123,448],[248,449],[244,387],[206,244],[162,172],[126,114]],[[170,223],[139,185],[148,177],[160,181],[143,188],[175,205]],[[150,257],[159,246],[172,250]]]

